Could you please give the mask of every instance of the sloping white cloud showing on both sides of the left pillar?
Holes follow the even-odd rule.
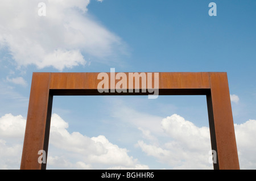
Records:
[[[6,114],[0,118],[1,169],[18,169],[26,120]],[[105,136],[88,137],[68,132],[68,123],[59,115],[51,120],[48,167],[52,169],[148,168],[129,156],[127,149],[112,144]]]

